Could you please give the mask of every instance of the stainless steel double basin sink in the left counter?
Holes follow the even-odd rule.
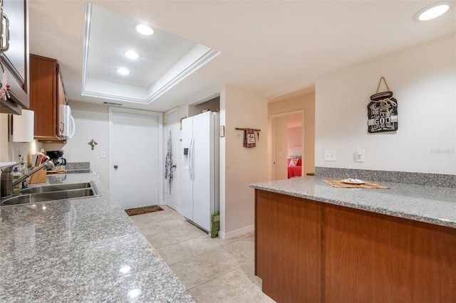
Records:
[[[50,184],[24,188],[19,192],[19,195],[1,201],[0,206],[88,198],[93,196],[100,196],[93,181]]]

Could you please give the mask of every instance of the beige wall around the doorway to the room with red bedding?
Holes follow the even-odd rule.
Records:
[[[286,112],[304,110],[303,142],[304,142],[304,174],[315,169],[315,92],[304,95],[294,95],[284,100],[271,102],[268,105],[268,115],[279,115]],[[271,134],[269,141],[272,142]],[[272,147],[270,147],[272,148]]]

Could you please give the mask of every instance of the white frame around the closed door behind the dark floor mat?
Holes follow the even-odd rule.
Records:
[[[165,165],[163,159],[165,159],[165,154],[163,154],[163,113],[162,112],[152,112],[150,110],[133,110],[131,108],[123,108],[123,107],[109,107],[109,150],[112,151],[113,148],[113,113],[114,112],[123,112],[123,113],[128,113],[128,114],[138,114],[138,115],[146,115],[146,116],[151,116],[151,117],[157,117],[158,119],[158,138],[157,138],[157,151],[158,151],[158,171],[157,174],[159,175],[158,177],[158,201],[160,205],[164,204],[163,201],[163,191],[160,190],[163,188],[163,176],[164,176],[164,170],[163,166]],[[113,174],[113,157],[109,156],[109,169],[108,169],[108,175],[109,175],[109,181],[108,181],[108,188],[111,184],[111,176]]]

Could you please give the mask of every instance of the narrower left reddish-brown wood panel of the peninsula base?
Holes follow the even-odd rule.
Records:
[[[322,302],[321,218],[321,203],[255,190],[255,274],[276,302]]]

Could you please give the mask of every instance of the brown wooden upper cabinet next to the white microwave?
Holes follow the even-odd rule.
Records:
[[[35,112],[35,139],[63,142],[61,106],[65,92],[56,59],[30,55],[30,109]]]

